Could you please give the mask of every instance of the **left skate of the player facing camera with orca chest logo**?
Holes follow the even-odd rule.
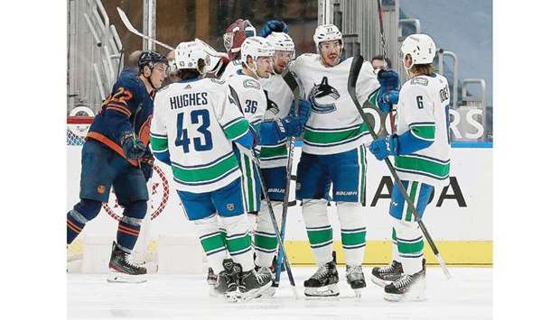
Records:
[[[303,282],[305,297],[338,297],[339,273],[334,261],[322,265],[310,279]]]

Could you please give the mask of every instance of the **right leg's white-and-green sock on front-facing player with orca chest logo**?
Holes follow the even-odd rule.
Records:
[[[338,202],[337,213],[341,222],[341,240],[346,264],[360,266],[366,249],[366,224],[361,203]]]

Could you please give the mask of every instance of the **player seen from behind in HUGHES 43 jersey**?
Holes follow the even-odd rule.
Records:
[[[203,78],[209,60],[201,41],[177,46],[175,63],[182,80],[155,97],[152,149],[158,160],[172,167],[185,213],[198,229],[211,268],[219,274],[216,290],[248,300],[270,287],[272,278],[255,270],[241,173],[231,142],[252,149],[255,137],[224,82]]]

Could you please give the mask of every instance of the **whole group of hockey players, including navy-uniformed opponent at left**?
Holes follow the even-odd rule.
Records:
[[[268,206],[261,206],[260,178],[280,223],[292,137],[303,140],[295,194],[318,266],[303,283],[307,297],[339,295],[328,201],[336,203],[347,282],[357,291],[366,287],[368,217],[361,206],[367,149],[378,160],[395,157],[419,215],[434,187],[447,183],[449,88],[434,73],[435,44],[428,35],[403,42],[409,79],[402,87],[395,71],[376,72],[369,62],[361,68],[359,103],[397,112],[396,131],[372,142],[347,89],[352,58],[343,56],[335,25],[319,25],[316,53],[297,58],[284,22],[268,21],[259,34],[239,19],[224,34],[227,56],[199,39],[180,43],[173,60],[144,51],[138,73],[122,74],[103,102],[82,150],[80,201],[67,214],[67,243],[98,215],[114,187],[125,210],[109,261],[111,281],[134,282],[146,273],[131,252],[146,214],[154,158],[172,168],[210,264],[212,291],[231,301],[275,294],[278,242]],[[170,72],[177,81],[162,87]],[[300,96],[285,83],[285,72],[298,79]],[[371,279],[389,300],[423,299],[423,235],[397,187],[390,216],[393,261],[373,268]]]

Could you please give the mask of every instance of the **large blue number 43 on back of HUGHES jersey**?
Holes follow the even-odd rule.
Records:
[[[175,139],[175,146],[182,146],[182,151],[187,153],[190,151],[189,146],[194,145],[195,151],[209,151],[212,149],[212,135],[208,130],[210,126],[210,113],[208,110],[193,110],[191,112],[191,123],[201,124],[196,130],[202,133],[201,137],[189,138],[187,129],[183,129],[183,117],[185,113],[177,114],[177,138]],[[187,115],[188,116],[188,115]]]

